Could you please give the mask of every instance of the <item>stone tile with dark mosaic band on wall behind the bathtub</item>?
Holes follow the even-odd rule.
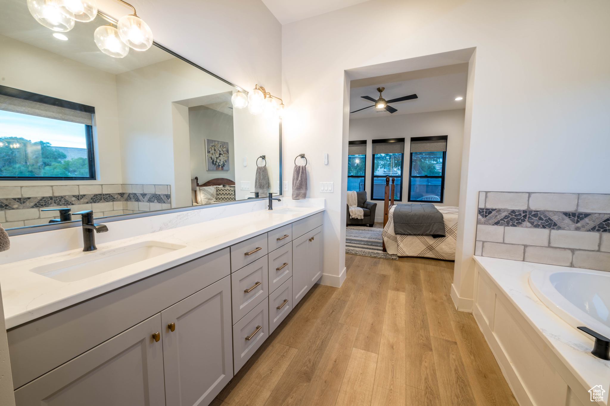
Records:
[[[610,194],[479,192],[475,255],[610,271]]]

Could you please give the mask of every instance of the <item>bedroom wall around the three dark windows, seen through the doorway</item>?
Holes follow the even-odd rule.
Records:
[[[462,166],[462,137],[464,136],[464,109],[429,111],[428,113],[398,114],[350,120],[350,141],[367,141],[367,168],[365,190],[371,194],[372,140],[380,138],[404,138],[404,190],[407,202],[409,177],[409,141],[411,137],[447,135],[447,161],[445,163],[444,203],[437,206],[458,206],[459,178]],[[382,203],[379,202],[379,203]],[[381,204],[379,205],[381,206]],[[375,221],[383,221],[383,210],[375,212]]]

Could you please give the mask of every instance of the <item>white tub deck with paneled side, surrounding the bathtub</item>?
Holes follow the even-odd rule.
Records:
[[[566,269],[480,256],[475,261],[475,320],[519,403],[531,404],[533,396],[540,405],[591,404],[588,390],[603,385],[605,401],[595,404],[607,405],[610,361],[590,354],[593,340],[565,323],[529,287],[534,269]],[[540,358],[545,360],[537,363]]]

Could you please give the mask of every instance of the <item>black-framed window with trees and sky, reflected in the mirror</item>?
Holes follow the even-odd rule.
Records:
[[[95,108],[0,86],[0,180],[92,180]]]

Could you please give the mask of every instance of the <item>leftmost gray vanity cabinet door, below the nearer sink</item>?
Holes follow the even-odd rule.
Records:
[[[157,313],[15,391],[18,406],[163,406]]]

